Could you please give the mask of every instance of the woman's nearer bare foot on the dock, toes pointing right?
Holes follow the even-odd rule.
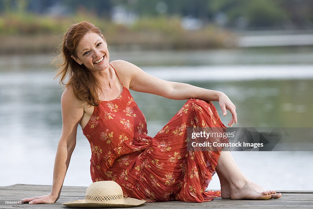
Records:
[[[276,191],[273,190],[265,190],[251,181],[244,182],[238,186],[232,184],[230,185],[230,198],[232,200],[267,200],[271,198],[277,199],[280,197],[281,193],[276,193]]]

